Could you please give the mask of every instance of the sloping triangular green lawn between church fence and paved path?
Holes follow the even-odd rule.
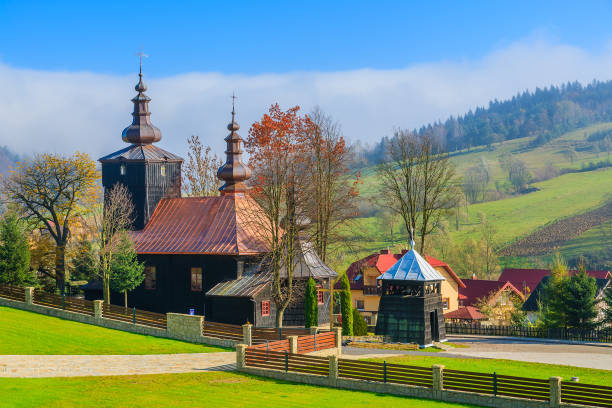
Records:
[[[227,351],[0,306],[0,354],[167,354]]]

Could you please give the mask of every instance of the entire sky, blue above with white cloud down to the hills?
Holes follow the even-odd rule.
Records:
[[[373,144],[567,81],[612,80],[612,3],[564,1],[0,0],[0,145],[123,147],[142,45],[151,120],[185,155],[222,155],[268,107],[318,106]]]

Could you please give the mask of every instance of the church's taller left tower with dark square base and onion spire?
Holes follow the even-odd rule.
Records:
[[[138,74],[138,92],[132,102],[132,124],[123,130],[121,138],[129,146],[102,157],[102,185],[104,192],[116,183],[124,184],[134,202],[135,230],[143,229],[162,198],[181,196],[181,165],[183,159],[154,143],[161,140],[161,131],[151,123],[149,102],[142,82],[142,64]]]

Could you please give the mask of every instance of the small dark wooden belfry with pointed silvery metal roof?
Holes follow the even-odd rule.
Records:
[[[377,279],[382,283],[376,334],[428,345],[446,339],[440,275],[412,249]]]

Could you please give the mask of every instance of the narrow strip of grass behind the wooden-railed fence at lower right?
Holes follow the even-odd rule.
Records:
[[[372,361],[386,360],[387,363],[406,364],[419,367],[431,367],[434,364],[442,364],[450,370],[474,371],[480,373],[493,373],[501,375],[513,375],[517,377],[541,378],[559,376],[564,379],[580,377],[580,382],[585,384],[610,385],[612,371],[596,370],[592,368],[570,367],[556,364],[528,363],[523,361],[502,359],[472,359],[452,357],[431,356],[401,356],[385,359],[372,359]]]

